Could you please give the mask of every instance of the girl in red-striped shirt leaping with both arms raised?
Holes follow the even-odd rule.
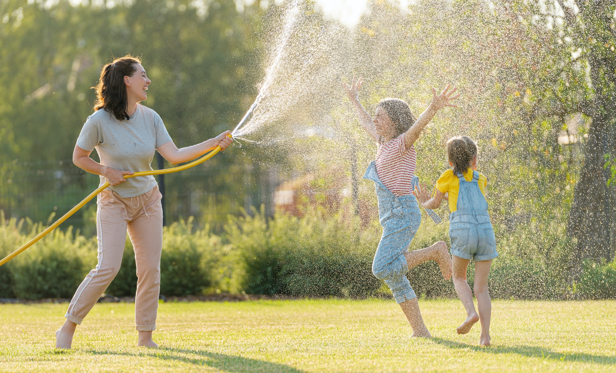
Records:
[[[432,103],[416,120],[407,103],[386,98],[376,106],[373,120],[359,102],[362,78],[355,81],[353,77],[351,87],[343,85],[363,129],[378,143],[376,160],[370,163],[363,176],[375,182],[379,222],[383,226],[372,273],[391,289],[413,328],[413,337],[429,338],[431,334],[421,318],[415,291],[406,274],[408,269],[433,260],[439,264],[445,279],[449,279],[452,277],[452,259],[444,241],[428,248],[408,251],[421,222],[421,211],[413,195],[412,180],[416,165],[413,144],[436,112],[446,106],[455,108],[456,105],[450,101],[460,95],[452,96],[456,88],[449,90],[450,85],[440,95],[432,88]]]

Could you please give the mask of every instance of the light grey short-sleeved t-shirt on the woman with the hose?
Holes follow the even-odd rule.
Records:
[[[131,119],[118,120],[105,109],[99,109],[87,117],[77,146],[91,152],[96,149],[103,166],[121,171],[152,171],[155,150],[171,141],[163,120],[150,108],[137,104]],[[100,185],[107,178],[100,176]],[[122,198],[136,197],[156,186],[154,176],[129,178],[111,190]]]

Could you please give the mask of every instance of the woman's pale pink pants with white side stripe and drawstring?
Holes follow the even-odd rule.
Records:
[[[163,247],[162,195],[158,186],[137,197],[122,198],[105,189],[97,197],[97,239],[99,262],[75,292],[65,317],[75,324],[90,312],[103,291],[120,270],[126,229],[135,249],[137,330],[156,329],[156,310],[160,293],[160,254]]]

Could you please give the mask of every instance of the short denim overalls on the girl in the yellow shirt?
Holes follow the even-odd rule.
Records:
[[[449,214],[449,237],[452,255],[474,262],[489,261],[498,256],[496,238],[488,214],[488,203],[479,189],[479,173],[472,171],[472,180],[466,181],[458,173],[460,191],[458,209]]]

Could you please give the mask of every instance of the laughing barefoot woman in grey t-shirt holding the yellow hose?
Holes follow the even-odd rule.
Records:
[[[137,345],[158,347],[152,340],[160,292],[160,256],[163,245],[162,195],[153,176],[124,179],[136,171],[152,170],[155,150],[172,164],[187,162],[233,140],[230,132],[203,143],[177,149],[163,120],[140,104],[152,82],[138,58],[127,55],[105,65],[96,85],[94,114],[84,124],[73,163],[100,175],[110,187],[97,197],[98,264],[83,280],[68,306],[67,320],[56,333],[56,348],[71,348],[75,328],[86,317],[120,269],[126,231],[135,249]],[[96,149],[100,163],[89,155]]]

